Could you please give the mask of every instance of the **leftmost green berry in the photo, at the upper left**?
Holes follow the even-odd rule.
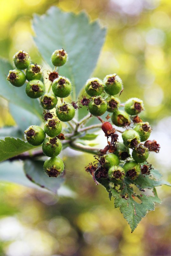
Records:
[[[10,83],[16,87],[21,87],[24,85],[26,77],[25,74],[19,70],[19,69],[14,69],[10,70],[9,74],[7,76],[7,80],[10,81]]]

